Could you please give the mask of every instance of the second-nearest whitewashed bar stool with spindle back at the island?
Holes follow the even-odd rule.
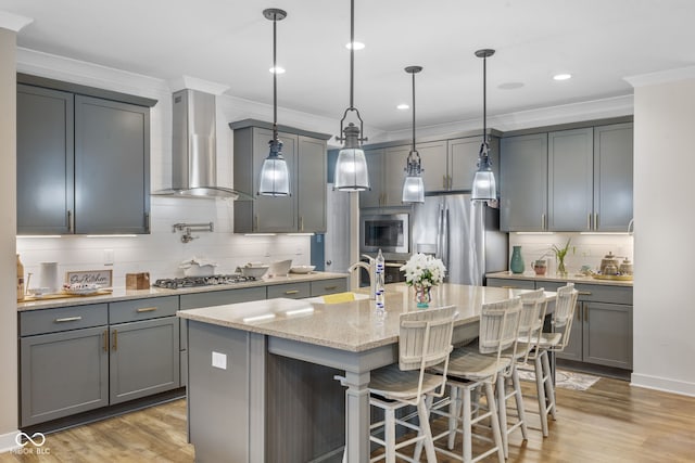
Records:
[[[465,463],[482,460],[496,452],[500,462],[504,462],[504,443],[493,385],[498,376],[511,369],[511,359],[503,356],[503,351],[509,348],[515,349],[520,312],[521,303],[518,297],[483,305],[480,314],[478,349],[456,348],[452,351],[446,380],[451,388],[450,397],[437,403],[428,398],[428,408],[431,413],[448,419],[448,428],[433,436],[434,441],[447,437],[447,448],[435,447],[435,451]],[[488,410],[484,413],[481,413],[480,408],[475,407],[472,400],[472,393],[480,388],[484,389],[488,402]],[[475,435],[473,426],[488,417],[491,422],[493,447],[473,459],[472,438],[490,440],[485,436]],[[452,452],[457,434],[463,435],[460,455]]]

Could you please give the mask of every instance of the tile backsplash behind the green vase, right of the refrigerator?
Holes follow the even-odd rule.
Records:
[[[581,233],[548,233],[526,234],[509,233],[509,256],[511,246],[521,246],[521,256],[526,265],[526,272],[533,274],[531,262],[544,258],[547,260],[548,274],[554,274],[557,263],[553,245],[564,247],[570,241],[570,250],[565,258],[565,267],[570,273],[578,272],[582,266],[590,266],[598,270],[601,260],[611,252],[615,256],[633,260],[633,236],[628,234],[581,234]],[[639,262],[635,262],[635,267]]]

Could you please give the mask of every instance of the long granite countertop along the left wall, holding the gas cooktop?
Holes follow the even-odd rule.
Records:
[[[181,294],[207,293],[211,291],[241,290],[244,287],[271,286],[286,283],[300,283],[336,278],[346,278],[348,273],[332,272],[311,272],[311,273],[289,273],[287,276],[273,276],[253,282],[218,284],[212,286],[182,287],[178,290],[167,290],[152,286],[149,290],[126,290],[125,287],[114,287],[109,294],[97,294],[93,296],[77,296],[64,298],[36,298],[31,300],[17,301],[17,311],[49,309],[68,306],[84,306],[88,304],[106,304],[118,300],[143,299],[148,297],[178,296]]]

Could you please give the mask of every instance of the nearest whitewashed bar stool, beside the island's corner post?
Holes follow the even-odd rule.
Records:
[[[444,395],[455,317],[455,306],[401,314],[399,364],[374,371],[369,382],[369,403],[384,413],[383,421],[370,425],[370,440],[386,449],[371,462],[386,459],[393,463],[396,455],[410,462],[419,461],[397,451],[415,442],[418,448],[425,446],[428,462],[437,461],[425,400]],[[440,374],[428,373],[430,368],[437,368]],[[397,410],[408,406],[417,408],[419,426],[395,417]],[[417,436],[396,443],[396,425],[417,430]],[[383,439],[375,435],[380,428],[383,428]]]

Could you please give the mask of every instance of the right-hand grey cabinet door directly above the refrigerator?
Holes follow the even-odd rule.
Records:
[[[478,169],[478,157],[482,137],[467,137],[448,141],[448,177],[451,190],[470,191],[473,176]],[[489,141],[490,160],[495,179],[500,181],[500,139],[491,137]],[[500,185],[497,185],[500,188]]]

